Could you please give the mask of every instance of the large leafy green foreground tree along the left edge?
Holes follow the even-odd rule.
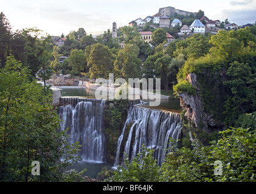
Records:
[[[51,95],[29,81],[29,69],[13,56],[0,70],[0,93],[0,180],[63,181],[66,166],[80,159],[79,146],[57,132]],[[40,176],[32,175],[32,161],[40,162]]]

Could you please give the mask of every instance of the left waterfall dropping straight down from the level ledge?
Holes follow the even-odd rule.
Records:
[[[105,100],[87,98],[61,98],[58,114],[63,121],[60,130],[70,135],[69,143],[79,142],[78,153],[84,161],[105,161],[106,139],[103,134]]]

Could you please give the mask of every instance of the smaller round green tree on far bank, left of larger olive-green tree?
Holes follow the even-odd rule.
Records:
[[[83,50],[72,49],[71,55],[68,59],[69,66],[72,67],[72,73],[78,74],[81,77],[81,73],[85,71],[86,58]]]

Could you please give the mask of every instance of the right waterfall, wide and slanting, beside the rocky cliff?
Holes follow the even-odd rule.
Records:
[[[117,166],[120,162],[120,157],[125,158],[122,154],[125,152],[128,158],[133,159],[140,152],[141,146],[153,148],[154,157],[157,159],[157,164],[161,165],[165,155],[170,152],[168,149],[169,138],[179,139],[181,134],[182,119],[178,113],[168,112],[164,110],[147,109],[143,107],[130,107],[128,116],[123,127],[122,133],[117,142]],[[126,126],[130,124],[130,129]],[[125,130],[130,130],[126,139],[124,139]],[[122,150],[122,144],[125,141],[125,146]]]

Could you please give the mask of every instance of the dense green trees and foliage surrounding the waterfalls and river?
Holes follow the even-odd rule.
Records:
[[[57,132],[60,119],[50,103],[52,92],[35,79],[44,69],[44,79],[60,72],[89,79],[108,78],[108,73],[125,79],[161,78],[161,88],[170,95],[199,96],[203,112],[216,121],[216,129],[206,132],[184,110],[181,147],[172,147],[161,167],[153,150],[144,147],[119,167],[122,173],[117,170],[105,181],[255,181],[256,25],[177,37],[164,47],[168,30],[152,30],[150,47],[136,27],[119,28],[118,38],[107,30],[96,39],[79,28],[58,47],[37,28],[13,32],[1,13],[0,180],[81,181],[83,172],[64,171],[79,160],[79,145],[67,144],[68,136]],[[68,58],[60,63],[61,56]],[[192,73],[196,84],[189,80]],[[120,119],[119,112],[111,113]],[[120,122],[111,125],[114,130]],[[40,176],[31,174],[32,161],[44,161]],[[221,173],[213,173],[215,161],[223,162]]]

